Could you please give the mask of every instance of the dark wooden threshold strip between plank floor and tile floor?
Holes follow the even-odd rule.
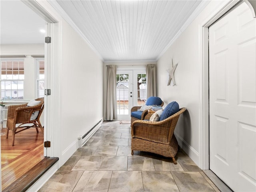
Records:
[[[10,186],[6,187],[2,192],[25,192],[34,184],[47,170],[49,170],[56,162],[58,157],[45,157],[38,162],[33,168],[28,170],[24,175],[14,181]]]

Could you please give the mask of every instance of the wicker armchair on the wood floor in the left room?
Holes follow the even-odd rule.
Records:
[[[36,128],[36,132],[38,133],[38,128],[40,128],[43,132],[43,128],[40,123],[40,116],[44,110],[44,98],[38,98],[36,101],[40,101],[40,103],[35,106],[27,106],[28,103],[26,103],[22,105],[11,105],[8,107],[6,138],[8,138],[9,130],[11,130],[12,146],[14,146],[15,134],[21,131],[29,128]],[[31,116],[33,116],[32,114],[34,112],[38,112],[38,115],[32,118]]]

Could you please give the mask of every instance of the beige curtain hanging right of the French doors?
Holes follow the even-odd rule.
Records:
[[[147,98],[157,96],[157,77],[156,77],[156,64],[146,65],[147,76]]]

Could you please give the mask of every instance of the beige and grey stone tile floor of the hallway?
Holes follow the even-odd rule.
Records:
[[[131,155],[130,124],[105,121],[39,192],[218,192],[182,151],[170,158]]]

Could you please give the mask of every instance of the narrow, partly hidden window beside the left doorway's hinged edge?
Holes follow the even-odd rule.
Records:
[[[36,60],[36,90],[37,97],[44,97],[44,59]]]

